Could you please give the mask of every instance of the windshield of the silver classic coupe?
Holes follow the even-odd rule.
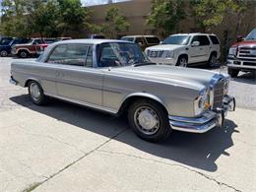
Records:
[[[107,42],[98,46],[98,67],[120,67],[150,63],[141,48],[134,43]]]

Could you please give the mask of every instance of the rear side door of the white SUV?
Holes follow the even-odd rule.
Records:
[[[193,46],[193,42],[199,41],[199,45]],[[194,35],[189,48],[189,63],[199,63],[207,61],[210,41],[206,35]]]

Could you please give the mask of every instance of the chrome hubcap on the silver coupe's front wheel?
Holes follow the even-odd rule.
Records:
[[[134,114],[135,125],[147,135],[155,134],[160,128],[160,120],[155,110],[148,106],[139,107]]]

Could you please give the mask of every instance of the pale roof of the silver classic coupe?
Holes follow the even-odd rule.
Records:
[[[126,40],[116,40],[116,39],[98,39],[98,38],[81,38],[81,39],[71,39],[55,42],[55,44],[67,44],[67,43],[88,43],[88,44],[101,44],[105,42],[128,42]],[[133,43],[133,42],[129,42]]]

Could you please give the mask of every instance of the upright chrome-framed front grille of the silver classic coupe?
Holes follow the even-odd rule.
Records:
[[[224,79],[220,79],[214,85],[214,108],[222,107],[224,100]]]

